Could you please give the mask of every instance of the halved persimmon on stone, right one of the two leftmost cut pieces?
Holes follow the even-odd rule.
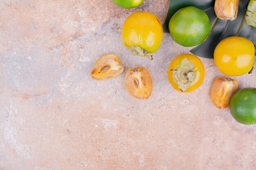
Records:
[[[150,73],[144,67],[127,71],[125,86],[128,93],[136,99],[148,99],[153,90]]]

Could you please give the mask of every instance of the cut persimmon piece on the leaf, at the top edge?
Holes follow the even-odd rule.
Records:
[[[214,10],[221,20],[235,20],[238,13],[239,0],[216,0]]]

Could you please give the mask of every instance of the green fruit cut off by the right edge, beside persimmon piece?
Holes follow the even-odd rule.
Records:
[[[241,124],[256,124],[256,88],[244,88],[230,100],[230,113]]]

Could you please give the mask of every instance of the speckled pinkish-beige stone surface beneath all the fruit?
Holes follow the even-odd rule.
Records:
[[[202,86],[182,94],[166,72],[189,48],[164,33],[149,61],[123,45],[128,15],[149,11],[164,22],[168,3],[125,10],[111,0],[1,0],[0,170],[255,170],[256,125],[211,104],[211,84],[226,77],[213,60],[201,58]],[[108,53],[124,73],[93,80],[94,62]],[[124,86],[138,66],[153,79],[148,100]],[[235,79],[256,87],[256,71]]]

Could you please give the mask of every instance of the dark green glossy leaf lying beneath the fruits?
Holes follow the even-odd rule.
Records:
[[[166,21],[164,23],[164,31],[168,30],[168,22],[172,15],[181,7],[194,6],[204,10],[212,23],[212,30],[208,38],[199,46],[196,46],[190,52],[205,58],[213,58],[214,49],[217,44],[224,38],[230,36],[241,36],[248,38],[256,44],[256,31],[252,26],[248,26],[245,22],[245,10],[249,4],[249,0],[241,0],[236,20],[216,20],[214,11],[215,0],[171,0]]]

